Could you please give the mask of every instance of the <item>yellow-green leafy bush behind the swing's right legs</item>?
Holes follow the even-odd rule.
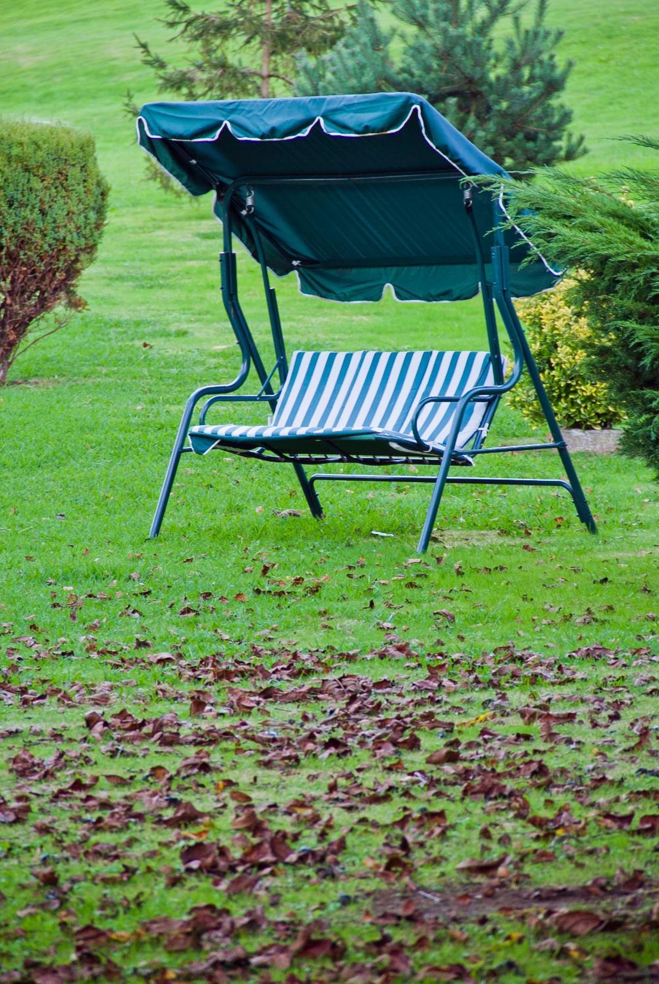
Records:
[[[562,427],[611,427],[622,418],[606,383],[593,382],[587,355],[593,332],[586,317],[570,305],[573,280],[554,290],[515,302],[540,376]],[[545,422],[527,373],[511,392],[510,404],[531,424]]]

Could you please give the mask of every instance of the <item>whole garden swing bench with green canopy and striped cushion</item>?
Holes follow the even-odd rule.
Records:
[[[319,519],[321,480],[432,483],[420,553],[448,482],[563,487],[581,522],[595,531],[512,306],[513,297],[547,289],[560,274],[518,229],[503,227],[503,196],[469,181],[506,171],[425,99],[387,92],[151,103],[138,119],[138,137],[193,195],[215,193],[222,298],[242,355],[233,382],[203,386],[187,401],[151,536],[160,529],[181,455],[215,449],[292,464]],[[238,299],[234,235],[261,266],[275,355],[270,371]],[[292,352],[289,361],[269,272],[295,272],[302,293],[345,303],[380,300],[388,286],[398,300],[410,301],[463,300],[480,291],[488,350],[308,350]],[[514,355],[508,378],[495,307]],[[237,391],[252,365],[261,388],[243,396]],[[497,404],[523,370],[551,440],[486,448]],[[267,403],[270,421],[207,421],[216,402],[236,401]],[[479,455],[541,450],[558,452],[566,479],[472,477],[463,468],[449,474]],[[435,473],[305,473],[306,464],[338,462],[433,465]]]

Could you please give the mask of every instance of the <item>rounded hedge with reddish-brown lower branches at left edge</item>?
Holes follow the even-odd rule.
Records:
[[[107,194],[88,134],[0,118],[0,384],[44,315],[50,334],[85,306]]]

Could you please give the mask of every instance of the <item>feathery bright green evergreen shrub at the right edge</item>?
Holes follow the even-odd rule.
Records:
[[[659,140],[626,139],[659,152]],[[499,192],[501,182],[482,183]],[[580,178],[546,168],[505,186],[510,221],[572,271],[571,300],[592,332],[588,371],[625,417],[622,451],[659,476],[659,169]]]

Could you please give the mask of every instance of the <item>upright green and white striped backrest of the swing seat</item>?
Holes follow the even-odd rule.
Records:
[[[420,400],[459,396],[493,382],[490,352],[298,351],[292,354],[272,425],[411,435],[412,415]],[[458,448],[473,437],[487,405],[469,404]],[[419,415],[421,436],[442,444],[454,409],[454,402],[424,407]]]

